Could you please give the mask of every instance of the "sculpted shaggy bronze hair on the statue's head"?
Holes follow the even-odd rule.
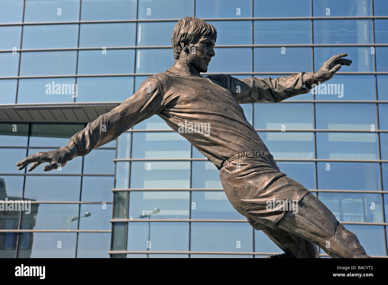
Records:
[[[217,30],[211,24],[196,17],[180,19],[175,25],[171,36],[171,45],[175,59],[179,58],[182,51],[181,42],[186,44],[197,43],[202,36],[210,36],[213,40],[216,40]]]

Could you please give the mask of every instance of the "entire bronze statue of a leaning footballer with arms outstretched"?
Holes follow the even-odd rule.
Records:
[[[33,163],[28,169],[31,171],[49,162],[44,171],[56,169],[158,114],[220,169],[233,207],[284,250],[284,254],[272,258],[317,258],[316,245],[331,257],[369,257],[356,235],[346,230],[320,200],[279,170],[239,105],[279,102],[307,93],[312,85],[331,79],[341,65],[349,66],[352,61],[342,58],[347,54],[338,54],[317,72],[275,79],[201,76],[215,55],[216,38],[212,25],[196,17],[181,19],[171,38],[173,66],[149,76],[132,97],[88,123],[64,147],[38,152],[16,165],[23,169]],[[298,208],[291,211],[287,208],[290,203]]]

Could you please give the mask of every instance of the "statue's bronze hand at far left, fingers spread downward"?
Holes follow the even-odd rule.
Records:
[[[38,152],[36,154],[30,155],[25,159],[22,159],[21,161],[17,162],[16,166],[19,170],[22,170],[28,164],[34,162],[34,164],[28,168],[28,171],[31,171],[43,162],[50,162],[49,165],[43,167],[43,171],[50,171],[52,169],[57,169],[59,166],[64,166],[68,161],[69,153],[68,151],[66,151],[65,148],[61,147],[57,150]]]

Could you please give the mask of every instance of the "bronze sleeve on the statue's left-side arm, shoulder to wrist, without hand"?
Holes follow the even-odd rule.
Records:
[[[70,138],[64,148],[70,159],[86,155],[92,149],[111,142],[135,124],[159,113],[163,107],[159,81],[150,76],[132,97],[88,123],[84,130]]]

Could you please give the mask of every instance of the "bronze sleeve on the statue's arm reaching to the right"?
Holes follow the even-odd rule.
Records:
[[[229,90],[239,104],[255,102],[280,102],[284,99],[305,94],[312,88],[314,73],[301,72],[278,78],[239,79],[227,74],[210,75]]]

